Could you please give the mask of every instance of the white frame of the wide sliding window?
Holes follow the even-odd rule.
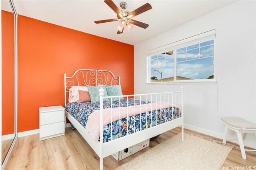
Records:
[[[207,37],[212,37],[208,38],[214,39],[214,78],[212,79],[194,79],[194,80],[176,80],[177,76],[177,61],[176,61],[176,49],[182,48],[182,47],[187,47],[189,45],[196,44],[196,42],[204,42],[204,38],[207,39]],[[200,40],[201,39],[201,40]],[[207,41],[207,40],[205,40]],[[182,39],[180,41],[176,41],[174,43],[170,43],[168,45],[164,45],[162,47],[152,49],[147,51],[147,80],[146,84],[148,85],[154,85],[154,84],[216,84],[217,78],[216,78],[216,38],[215,38],[215,29],[211,31],[207,31],[205,33],[201,33],[186,39]],[[151,82],[150,80],[150,73],[151,73],[151,67],[150,67],[150,57],[153,55],[157,55],[160,53],[165,53],[167,51],[175,51],[174,53],[174,81],[170,82]]]

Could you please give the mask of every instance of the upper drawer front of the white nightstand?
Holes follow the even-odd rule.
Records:
[[[40,113],[40,125],[61,122],[64,120],[64,110]]]

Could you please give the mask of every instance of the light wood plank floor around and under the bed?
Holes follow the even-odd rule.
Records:
[[[166,139],[177,135],[180,133],[180,130],[180,127],[177,127],[163,133],[155,141],[150,141],[150,147],[124,160],[116,161],[112,156],[104,158],[104,169],[113,170],[129,162],[136,156],[155,147]],[[194,131],[186,131],[202,135]],[[237,149],[232,149],[223,166],[256,165],[256,152],[246,152],[247,160],[244,160],[242,159],[239,146],[236,145],[236,147]],[[99,157],[78,131],[67,128],[64,136],[47,139],[41,142],[39,142],[39,134],[18,138],[5,169],[99,169],[99,164]]]

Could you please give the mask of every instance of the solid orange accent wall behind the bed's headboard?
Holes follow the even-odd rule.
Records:
[[[80,68],[110,70],[134,94],[133,45],[18,16],[18,132],[39,128],[39,107],[64,106],[64,73]]]

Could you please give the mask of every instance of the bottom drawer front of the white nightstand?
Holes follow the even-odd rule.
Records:
[[[65,132],[65,122],[40,125],[40,138]]]

